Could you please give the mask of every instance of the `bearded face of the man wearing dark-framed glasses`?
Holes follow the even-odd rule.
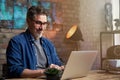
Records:
[[[35,15],[34,20],[28,20],[28,28],[35,38],[40,38],[47,27],[46,15]]]

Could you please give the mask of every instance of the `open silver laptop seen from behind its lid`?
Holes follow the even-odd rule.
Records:
[[[87,76],[96,59],[97,51],[72,51],[61,80]]]

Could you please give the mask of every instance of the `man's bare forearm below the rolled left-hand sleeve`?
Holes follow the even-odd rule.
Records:
[[[34,78],[34,77],[39,77],[44,75],[44,69],[39,69],[39,70],[30,70],[30,69],[24,69],[21,77],[22,78]]]

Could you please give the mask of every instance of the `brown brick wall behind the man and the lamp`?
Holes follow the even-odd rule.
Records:
[[[98,50],[99,52],[99,33],[104,28],[104,4],[105,0],[46,0],[58,3],[57,12],[63,20],[62,24],[54,24],[56,30],[46,31],[45,37],[49,38],[55,45],[58,55],[66,63],[70,52],[77,50]],[[99,4],[98,4],[99,3]],[[84,42],[71,42],[65,39],[66,32],[73,25],[77,24],[83,33]],[[57,28],[60,30],[58,31]],[[0,32],[0,75],[2,74],[2,64],[6,63],[5,51],[9,39],[22,32],[13,30]],[[100,66],[99,55],[94,68]]]

